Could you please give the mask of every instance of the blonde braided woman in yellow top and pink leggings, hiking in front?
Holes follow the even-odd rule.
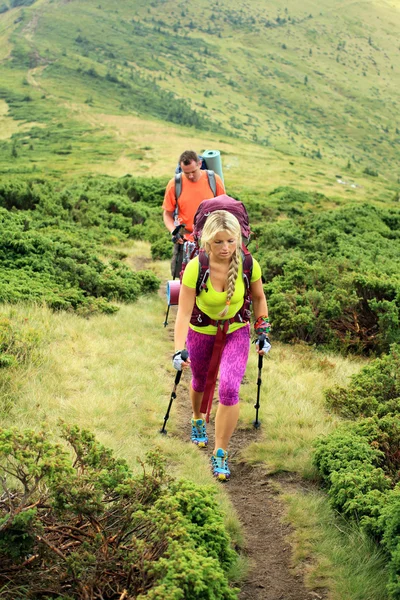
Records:
[[[239,417],[239,387],[246,370],[250,349],[249,311],[247,311],[247,322],[243,322],[242,317],[237,317],[245,301],[245,283],[241,250],[242,235],[236,217],[225,210],[211,213],[203,227],[201,248],[208,255],[209,277],[206,289],[202,289],[196,296],[199,257],[193,258],[186,266],[175,322],[173,364],[179,371],[189,365],[192,369],[190,386],[193,409],[192,442],[199,447],[205,447],[208,438],[204,406],[203,412],[201,411],[203,392],[214,342],[221,334],[222,328],[225,329],[226,339],[219,367],[219,404],[215,417],[215,448],[211,457],[211,467],[215,477],[227,480],[230,476],[228,445]],[[261,268],[254,258],[252,261],[250,291],[256,319],[254,328],[256,335],[259,336],[268,334],[270,325],[261,281]],[[199,314],[201,321],[199,321]],[[199,326],[204,321],[209,324]],[[181,352],[185,342],[189,358],[183,361]],[[266,354],[270,347],[268,341],[265,342],[263,349],[259,349],[256,343],[259,354]]]

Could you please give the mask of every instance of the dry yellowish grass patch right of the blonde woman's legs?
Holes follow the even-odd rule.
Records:
[[[243,427],[255,418],[257,364],[253,351],[241,390]],[[261,372],[261,436],[245,449],[246,460],[265,464],[271,473],[289,471],[315,477],[312,442],[338,423],[324,409],[322,390],[335,384],[345,385],[363,364],[362,359],[345,359],[317,353],[306,346],[289,348],[275,342]]]

